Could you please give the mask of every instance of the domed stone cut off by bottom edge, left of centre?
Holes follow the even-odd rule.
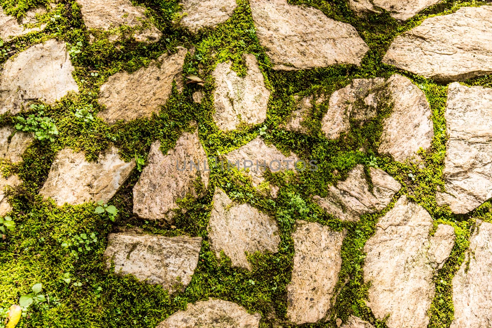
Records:
[[[155,328],[258,328],[261,315],[249,314],[236,303],[209,298],[208,301],[188,303]]]

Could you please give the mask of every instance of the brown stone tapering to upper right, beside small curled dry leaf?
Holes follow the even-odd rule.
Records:
[[[106,109],[97,116],[109,123],[151,117],[165,105],[172,91],[172,82],[181,81],[181,72],[187,50],[178,47],[172,55],[167,53],[151,61],[148,67],[141,67],[128,74],[118,72],[109,77],[101,86],[99,103]]]

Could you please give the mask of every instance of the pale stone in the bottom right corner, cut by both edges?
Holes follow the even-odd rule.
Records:
[[[480,224],[469,250],[453,277],[455,313],[450,328],[492,327],[492,224]]]

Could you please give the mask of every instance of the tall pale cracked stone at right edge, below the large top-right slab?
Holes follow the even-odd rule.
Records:
[[[446,103],[444,192],[439,206],[467,213],[492,197],[492,89],[452,83]]]

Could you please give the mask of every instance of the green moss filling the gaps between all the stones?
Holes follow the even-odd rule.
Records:
[[[435,225],[447,223],[455,227],[457,239],[452,254],[435,277],[436,294],[430,309],[430,328],[449,327],[453,318],[451,280],[464,259],[470,229],[477,218],[492,222],[492,204],[487,202],[467,215],[454,215],[448,208],[436,204],[435,192],[443,186],[442,169],[445,155],[446,131],[443,116],[447,86],[430,79],[400,71],[381,63],[385,51],[400,33],[419,25],[432,15],[447,14],[461,6],[481,5],[480,1],[444,1],[428,8],[399,24],[388,13],[357,17],[344,0],[295,0],[293,4],[307,4],[322,10],[328,17],[354,26],[369,45],[369,52],[361,66],[334,65],[307,71],[273,71],[272,64],[260,46],[255,34],[247,0],[238,0],[232,18],[216,29],[204,29],[190,34],[177,22],[180,6],[178,0],[139,0],[134,4],[145,6],[163,37],[154,44],[137,43],[131,38],[109,42],[104,35],[89,43],[89,31],[81,18],[80,6],[75,0],[61,0],[40,20],[47,23],[42,32],[5,42],[0,52],[0,62],[15,56],[31,45],[50,38],[62,39],[71,45],[81,42],[81,52],[72,57],[74,78],[79,86],[78,94],[69,94],[60,102],[46,106],[44,115],[53,119],[59,135],[53,143],[36,141],[24,155],[24,162],[6,166],[4,173],[17,172],[24,183],[10,191],[15,230],[0,240],[0,308],[17,303],[22,294],[31,292],[31,286],[42,283],[48,298],[46,302],[32,304],[19,327],[29,328],[154,328],[157,323],[186,303],[209,297],[231,300],[243,305],[249,312],[262,314],[261,328],[295,327],[285,318],[286,285],[289,283],[293,241],[290,237],[297,219],[319,222],[334,230],[347,229],[342,246],[342,268],[337,285],[337,296],[327,321],[303,325],[304,328],[336,327],[335,319],[346,320],[351,314],[368,320],[377,328],[386,327],[376,320],[365,304],[368,285],[363,281],[363,247],[374,233],[378,218],[391,209],[401,194],[429,211]],[[21,17],[27,9],[43,0],[0,0],[5,12]],[[128,33],[131,34],[131,33]],[[107,35],[106,35],[107,36]],[[184,75],[198,74],[211,83],[205,84],[205,97],[201,104],[192,100],[192,93],[202,87],[188,85],[182,93],[176,88],[161,111],[150,119],[118,122],[108,125],[101,119],[84,122],[77,120],[77,109],[92,105],[93,115],[101,110],[97,103],[98,88],[107,78],[121,70],[129,72],[146,65],[176,46],[195,48],[184,64]],[[220,132],[212,120],[214,90],[211,72],[219,62],[231,60],[233,69],[245,74],[243,54],[254,54],[263,71],[267,88],[271,90],[267,119],[264,124],[245,127],[229,133]],[[97,74],[95,74],[97,73]],[[326,112],[326,104],[313,108],[308,122],[308,134],[287,132],[279,128],[295,108],[294,96],[330,94],[350,83],[354,78],[389,77],[399,73],[410,78],[422,89],[431,105],[434,138],[431,149],[421,150],[425,165],[399,163],[388,156],[378,154],[378,138],[381,121],[392,110],[391,103],[378,107],[375,119],[362,126],[353,124],[350,133],[337,140],[328,140],[321,133],[320,120]],[[465,81],[468,85],[492,86],[491,77]],[[34,114],[27,108],[21,115]],[[280,186],[278,198],[272,200],[255,190],[247,179],[234,172],[211,173],[211,184],[202,199],[183,200],[186,214],[176,218],[176,227],[164,222],[145,221],[132,214],[132,188],[138,180],[138,170],[109,202],[119,209],[115,222],[106,215],[95,214],[93,203],[57,207],[50,200],[43,200],[37,193],[47,178],[57,151],[64,147],[82,150],[89,160],[97,157],[108,143],[121,150],[125,160],[138,156],[147,159],[150,145],[160,140],[165,152],[175,144],[179,134],[189,129],[189,122],[197,121],[199,135],[209,156],[236,149],[259,134],[282,151],[294,151],[304,159],[316,159],[319,169],[272,174],[268,177]],[[0,117],[1,125],[14,125],[15,116]],[[364,150],[364,151],[363,151]],[[374,159],[370,159],[373,156]],[[392,204],[385,210],[363,215],[359,222],[342,222],[327,214],[310,201],[310,195],[325,195],[326,186],[344,179],[356,164],[377,165],[402,184]],[[409,176],[410,175],[410,176]],[[411,177],[414,177],[412,179]],[[274,217],[281,231],[281,243],[277,254],[251,254],[252,271],[231,267],[230,261],[217,259],[210,251],[206,227],[211,211],[214,187],[223,188],[238,202],[247,202]],[[189,234],[203,237],[199,264],[191,283],[184,292],[169,295],[159,286],[137,281],[132,276],[118,276],[107,270],[102,254],[109,232],[125,227],[139,227],[146,233],[164,236]],[[75,257],[62,242],[74,235],[96,234],[97,241],[90,250]],[[67,277],[70,282],[67,283]],[[74,284],[76,283],[76,284]],[[79,284],[80,283],[80,284]],[[99,288],[100,287],[100,288]]]

